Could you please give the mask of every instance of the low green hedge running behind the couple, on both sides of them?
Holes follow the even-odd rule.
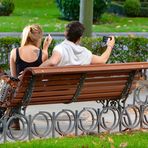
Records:
[[[53,41],[49,48],[51,55],[53,47],[59,42]],[[87,47],[92,53],[101,55],[106,47],[102,38],[83,38],[81,44]],[[12,48],[20,46],[19,38],[0,38],[0,67],[9,68],[9,55]],[[117,37],[114,49],[108,63],[123,63],[135,61],[147,61],[148,59],[148,38],[142,37]]]

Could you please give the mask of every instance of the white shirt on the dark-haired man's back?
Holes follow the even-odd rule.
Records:
[[[61,55],[61,61],[57,66],[89,65],[92,60],[91,51],[66,39],[55,46],[54,51]]]

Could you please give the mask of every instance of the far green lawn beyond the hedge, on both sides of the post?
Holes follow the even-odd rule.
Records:
[[[63,32],[68,21],[59,19],[55,0],[13,0],[11,16],[0,16],[0,32],[22,32],[33,23],[42,25],[45,32]],[[148,18],[127,18],[104,14],[101,23],[93,25],[94,32],[148,32]]]

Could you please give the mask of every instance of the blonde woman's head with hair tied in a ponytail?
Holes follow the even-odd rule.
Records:
[[[32,44],[34,46],[40,46],[41,39],[43,37],[43,31],[40,25],[32,24],[24,28],[22,32],[21,47]]]

